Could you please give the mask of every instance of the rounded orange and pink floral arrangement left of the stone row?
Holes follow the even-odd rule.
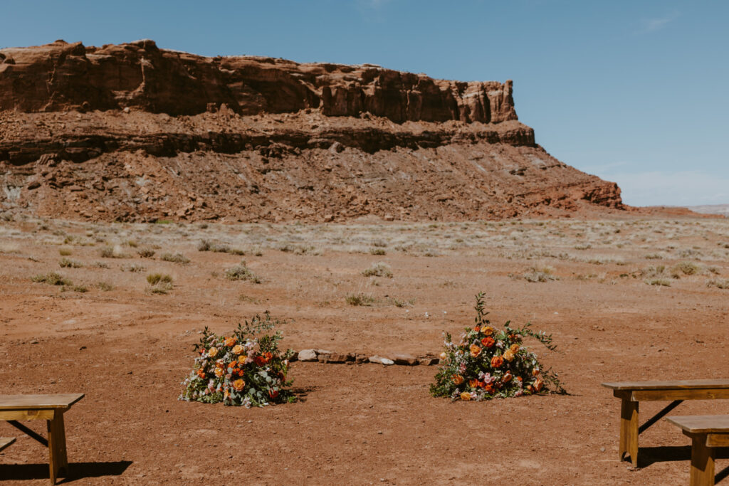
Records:
[[[280,321],[268,312],[256,315],[228,337],[217,336],[206,327],[195,345],[195,367],[184,379],[180,400],[202,401],[243,407],[265,407],[268,404],[294,401],[286,387],[289,358],[293,350],[279,353],[281,332],[265,332]],[[263,334],[262,334],[263,333]]]

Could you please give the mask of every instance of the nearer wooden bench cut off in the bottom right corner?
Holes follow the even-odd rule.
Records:
[[[714,485],[714,447],[729,447],[729,415],[668,417],[691,438],[690,486]]]

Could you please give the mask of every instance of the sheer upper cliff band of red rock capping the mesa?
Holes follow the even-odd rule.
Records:
[[[0,50],[0,109],[133,107],[171,115],[225,105],[239,114],[321,109],[407,120],[517,119],[512,83],[453,82],[378,66],[299,64],[255,57],[203,58],[155,42],[84,47],[56,41]]]

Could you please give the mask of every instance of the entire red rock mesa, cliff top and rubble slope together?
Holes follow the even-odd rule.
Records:
[[[535,144],[510,81],[58,41],[0,50],[0,127],[6,212],[327,221],[623,208],[617,185]]]

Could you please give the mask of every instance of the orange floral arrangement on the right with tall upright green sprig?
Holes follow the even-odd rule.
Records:
[[[466,328],[458,344],[445,334],[445,351],[441,366],[430,386],[433,396],[450,396],[452,400],[490,400],[535,393],[566,393],[556,373],[543,370],[537,355],[522,345],[524,337],[533,337],[547,349],[554,350],[552,336],[535,333],[526,324],[521,329],[504,324],[496,330],[486,319],[483,293],[476,296],[475,326]]]

